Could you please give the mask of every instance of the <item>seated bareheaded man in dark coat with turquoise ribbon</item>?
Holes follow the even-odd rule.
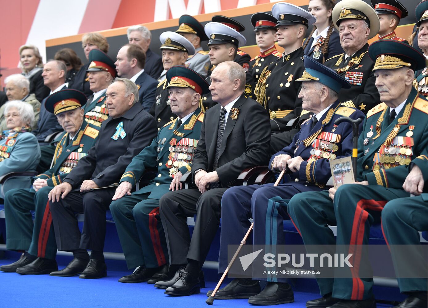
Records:
[[[127,96],[126,89],[131,89]],[[105,215],[115,193],[115,187],[110,186],[120,181],[132,158],[148,146],[157,133],[155,120],[138,103],[134,82],[116,78],[106,95],[109,118],[102,123],[98,140],[62,184],[49,193],[56,245],[59,250],[74,255],[71,263],[55,275],[81,272],[80,278],[89,279],[107,275],[103,255]],[[76,212],[84,214],[82,233]],[[90,258],[86,249],[92,249]]]

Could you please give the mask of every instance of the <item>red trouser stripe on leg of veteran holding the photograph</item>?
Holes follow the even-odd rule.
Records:
[[[369,213],[366,209],[381,211],[383,206],[387,201],[375,201],[373,199],[366,200],[361,199],[357,202],[357,207],[355,208],[354,221],[352,223],[351,231],[351,241],[349,247],[349,253],[352,253],[350,258],[351,264],[354,267],[351,267],[352,273],[352,300],[361,300],[364,295],[364,284],[361,278],[358,275],[360,271],[360,262],[361,262],[361,245],[363,245],[364,232],[367,218]],[[360,245],[360,246],[355,246]],[[357,251],[355,249],[358,248]]]

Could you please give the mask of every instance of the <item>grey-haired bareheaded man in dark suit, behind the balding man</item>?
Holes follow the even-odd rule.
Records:
[[[136,44],[143,48],[146,53],[146,65],[144,71],[155,79],[158,79],[163,71],[162,58],[150,50],[152,33],[144,26],[135,25],[127,30],[129,44]]]

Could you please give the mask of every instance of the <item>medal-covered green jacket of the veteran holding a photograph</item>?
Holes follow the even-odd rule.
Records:
[[[385,103],[369,110],[358,139],[357,181],[402,188],[408,165],[427,153],[427,113],[428,101],[413,88],[391,124]]]

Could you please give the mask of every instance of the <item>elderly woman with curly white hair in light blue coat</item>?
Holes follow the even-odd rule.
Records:
[[[9,101],[4,106],[7,130],[0,134],[0,177],[10,172],[36,171],[40,147],[30,133],[33,107],[23,101]],[[30,187],[30,181],[30,177],[10,178],[1,185],[0,198],[12,188]]]

